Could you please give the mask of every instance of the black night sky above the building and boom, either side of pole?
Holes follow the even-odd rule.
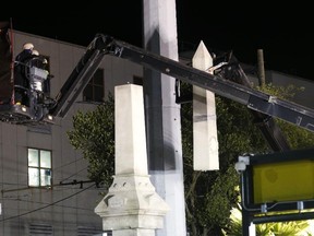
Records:
[[[96,33],[142,46],[141,2],[123,1],[122,4],[117,0],[102,7],[86,4],[85,12],[72,11],[68,16],[57,13],[11,19],[15,30],[83,46],[87,46]],[[287,3],[285,8],[275,9],[274,5],[246,4],[242,8],[238,3],[220,2],[177,0],[179,44],[196,47],[203,40],[209,50],[232,50],[240,61],[251,64],[256,64],[257,49],[263,49],[266,69],[314,80],[311,31],[314,21],[312,13],[306,13],[306,5]]]

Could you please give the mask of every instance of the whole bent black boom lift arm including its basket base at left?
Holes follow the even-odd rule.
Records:
[[[19,105],[12,105],[5,109],[1,109],[0,107],[0,119],[5,122],[27,123],[28,121],[45,122],[47,117],[64,117],[106,55],[130,60],[145,68],[173,76],[182,82],[212,91],[217,95],[245,105],[254,113],[262,114],[264,118],[279,118],[294,126],[312,132],[314,131],[314,110],[307,107],[280,99],[276,96],[256,91],[245,84],[230,81],[219,74],[207,73],[206,71],[192,68],[102,34],[97,34],[87,46],[85,54],[77,62],[56,98],[51,99],[49,96],[45,96],[44,102],[41,104],[34,104],[33,106],[35,106],[36,109],[31,109],[24,118],[22,107]],[[37,79],[38,76],[40,79],[41,74],[44,74],[40,70],[32,69],[29,71],[33,71],[33,73],[37,72],[37,74],[35,74]],[[34,74],[31,73],[31,76],[32,75]],[[39,81],[44,81],[44,79]],[[33,101],[36,103],[36,99]],[[53,101],[53,104],[51,104],[51,101]],[[40,110],[40,113],[38,113],[38,110]],[[38,114],[40,114],[40,116],[38,116]],[[17,116],[19,119],[16,119]],[[268,131],[270,129],[271,127],[268,128]],[[276,138],[273,137],[273,139]],[[278,149],[280,149],[280,146]]]

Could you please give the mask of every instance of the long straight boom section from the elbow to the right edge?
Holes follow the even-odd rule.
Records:
[[[108,36],[104,36],[108,37]],[[108,54],[212,91],[247,108],[314,131],[314,110],[109,37]]]

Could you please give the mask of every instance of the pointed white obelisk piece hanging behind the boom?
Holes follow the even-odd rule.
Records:
[[[203,42],[192,63],[203,71],[213,67],[213,58]],[[193,157],[195,170],[219,169],[215,94],[198,86],[193,86]]]

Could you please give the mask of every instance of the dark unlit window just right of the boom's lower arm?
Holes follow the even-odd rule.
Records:
[[[104,69],[97,69],[83,91],[84,102],[104,102]]]

